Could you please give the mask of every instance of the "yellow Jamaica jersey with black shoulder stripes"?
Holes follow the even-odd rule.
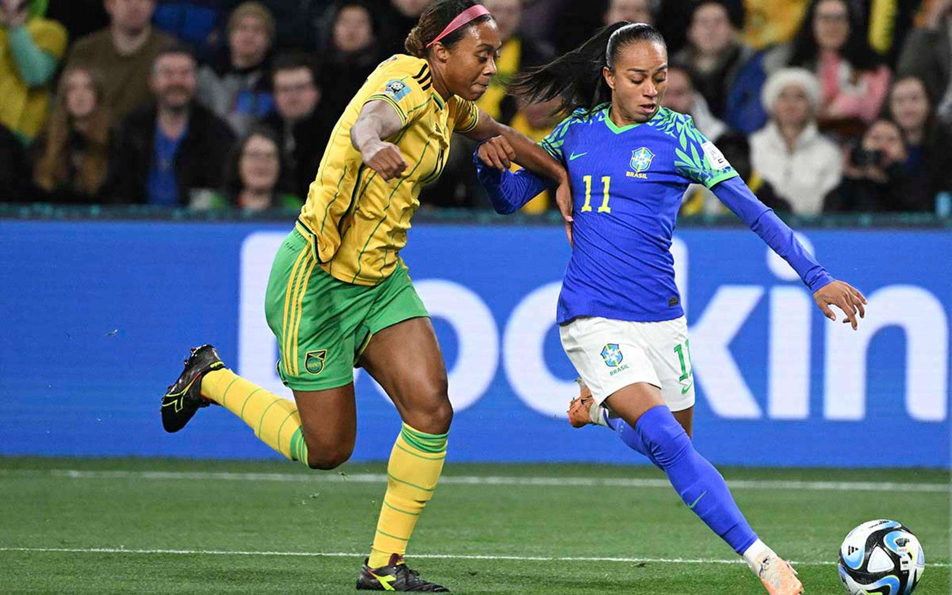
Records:
[[[350,127],[364,105],[376,100],[396,109],[404,124],[385,139],[407,162],[390,182],[364,165],[350,145]],[[407,245],[420,189],[443,170],[453,130],[466,132],[478,121],[472,102],[455,95],[444,101],[437,94],[426,60],[397,54],[370,74],[331,132],[297,224],[327,273],[366,286],[387,279]]]

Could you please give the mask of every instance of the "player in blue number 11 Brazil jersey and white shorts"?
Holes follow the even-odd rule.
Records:
[[[666,72],[658,30],[621,23],[516,81],[529,100],[561,98],[571,113],[542,146],[573,189],[572,204],[560,202],[572,255],[558,305],[562,345],[584,382],[573,421],[581,411],[583,424],[613,427],[664,470],[684,504],[743,556],[771,595],[796,595],[803,592],[796,572],[750,528],[689,437],[694,386],[669,250],[684,189],[711,188],[799,273],[830,319],[836,305],[855,329],[865,298],[803,249],[690,116],[661,107]],[[550,186],[525,169],[508,171],[512,154],[496,137],[474,157],[501,213]]]

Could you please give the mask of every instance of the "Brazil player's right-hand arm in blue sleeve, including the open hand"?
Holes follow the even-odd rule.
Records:
[[[823,314],[830,320],[836,320],[830,306],[843,310],[848,322],[856,330],[856,313],[860,318],[866,314],[863,305],[866,298],[858,289],[843,281],[835,280],[813,256],[803,249],[803,245],[793,234],[773,209],[766,208],[764,203],[757,200],[754,193],[747,188],[744,180],[733,177],[720,182],[713,188],[714,194],[727,208],[741,218],[754,233],[759,235],[767,246],[777,252],[783,260],[790,264],[806,287],[813,291],[813,299]]]

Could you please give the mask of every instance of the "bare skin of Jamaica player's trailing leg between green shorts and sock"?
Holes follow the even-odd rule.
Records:
[[[345,463],[357,439],[354,386],[295,390],[294,400],[307,445],[307,466],[332,469]]]

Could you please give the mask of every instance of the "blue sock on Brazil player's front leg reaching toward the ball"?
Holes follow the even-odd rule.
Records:
[[[669,408],[652,407],[634,428],[624,426],[617,431],[625,444],[639,452],[644,452],[642,448],[649,452],[645,456],[664,470],[684,504],[734,551],[743,554],[757,541],[757,534],[734,503],[724,477],[694,449]],[[638,440],[632,435],[637,435]]]

